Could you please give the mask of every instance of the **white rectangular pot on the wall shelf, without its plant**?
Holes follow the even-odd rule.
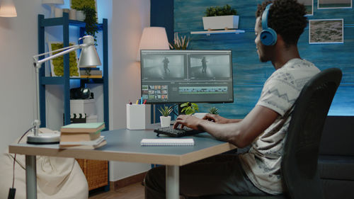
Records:
[[[237,29],[239,28],[239,16],[205,16],[202,18],[204,30]]]

